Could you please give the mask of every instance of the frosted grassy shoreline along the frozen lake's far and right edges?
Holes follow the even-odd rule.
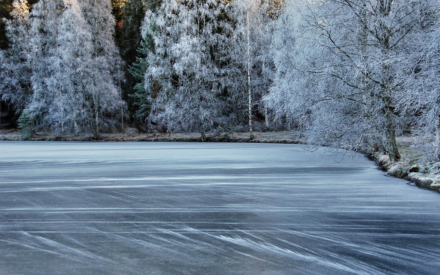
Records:
[[[209,133],[202,140],[200,133],[103,133],[99,139],[93,136],[78,135],[69,136],[56,133],[37,133],[29,141],[140,141],[140,142],[231,142],[231,143],[282,143],[282,144],[304,144],[306,139],[298,132],[253,132],[254,139],[249,139],[249,133],[234,133],[230,136],[222,136]],[[0,132],[0,140],[23,140],[18,131]],[[367,158],[376,162],[378,169],[387,172],[387,175],[408,180],[415,186],[440,192],[440,180],[428,173],[419,172],[423,166],[418,163],[421,153],[411,150],[411,141],[408,136],[400,137],[400,148],[402,159],[395,163],[389,161],[388,155],[374,155]],[[362,153],[360,153],[362,154]],[[415,165],[417,163],[417,165]],[[436,163],[435,165],[440,164]],[[440,168],[440,167],[439,167]],[[409,184],[409,183],[407,183]]]

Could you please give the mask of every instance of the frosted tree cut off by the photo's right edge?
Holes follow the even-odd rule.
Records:
[[[414,120],[416,144],[440,158],[440,20],[427,24],[414,40],[404,90],[396,91],[400,108]],[[408,73],[408,72],[407,72]]]

